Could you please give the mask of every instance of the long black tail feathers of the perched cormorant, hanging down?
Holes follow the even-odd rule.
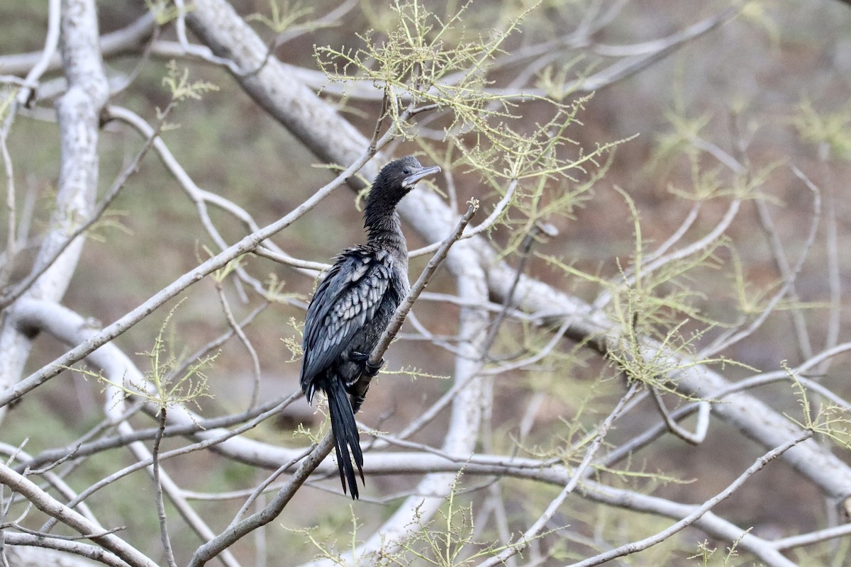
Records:
[[[337,466],[340,468],[340,482],[343,483],[343,492],[346,485],[349,487],[352,498],[360,494],[357,491],[357,478],[355,468],[351,466],[349,447],[351,455],[354,456],[357,472],[361,475],[363,482],[363,452],[361,451],[361,437],[357,434],[357,423],[355,414],[351,411],[349,395],[340,380],[330,380],[325,393],[328,394],[328,412],[331,414],[331,431],[334,432],[334,449],[337,451]]]

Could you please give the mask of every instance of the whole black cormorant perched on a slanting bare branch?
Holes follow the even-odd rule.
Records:
[[[328,396],[340,481],[344,492],[348,485],[352,498],[358,491],[351,456],[363,481],[355,413],[363,404],[369,378],[384,363],[369,364],[369,354],[409,288],[408,246],[396,206],[417,181],[439,171],[437,166],[423,167],[414,156],[381,169],[363,209],[367,243],[348,248],[335,259],[307,308],[301,390],[310,403],[317,389]]]

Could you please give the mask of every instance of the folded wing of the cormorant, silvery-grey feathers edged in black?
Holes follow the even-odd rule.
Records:
[[[301,383],[306,388],[372,320],[391,284],[393,258],[385,251],[343,252],[317,287],[305,322]]]

